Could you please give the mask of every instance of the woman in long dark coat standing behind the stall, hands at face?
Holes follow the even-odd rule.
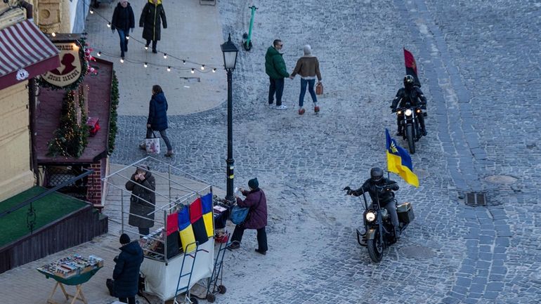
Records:
[[[141,236],[150,233],[154,225],[156,205],[156,180],[148,171],[148,166],[140,165],[126,183],[126,189],[131,191],[129,203],[129,225],[139,228]],[[148,213],[152,213],[148,215]]]

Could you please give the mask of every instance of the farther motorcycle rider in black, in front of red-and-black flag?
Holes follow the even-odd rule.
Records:
[[[396,112],[396,106],[399,105],[398,102],[400,102],[400,107],[405,107],[406,103],[410,102],[410,104],[414,107],[421,106],[422,109],[426,109],[426,97],[424,97],[423,91],[421,91],[421,88],[418,86],[414,86],[415,79],[411,75],[405,75],[404,77],[404,87],[400,88],[398,92],[396,93],[396,97],[393,99],[393,103],[391,104],[392,112]],[[402,130],[402,126],[400,125],[400,120],[402,119],[403,114],[396,115],[396,124],[398,125],[398,131],[396,132],[396,136],[403,136],[404,130]],[[417,115],[417,119],[419,119],[419,124],[421,125],[421,132],[423,136],[426,136],[426,128],[424,127],[424,114],[421,113]]]

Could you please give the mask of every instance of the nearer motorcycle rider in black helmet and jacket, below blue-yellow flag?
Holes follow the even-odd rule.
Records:
[[[379,206],[387,209],[391,215],[391,222],[393,223],[396,239],[400,239],[400,229],[398,227],[398,213],[396,213],[396,199],[394,199],[394,192],[400,187],[394,180],[383,177],[382,168],[374,167],[370,169],[370,178],[368,178],[362,186],[357,190],[351,190],[350,187],[345,187],[348,195],[354,195],[358,197],[363,192],[368,192],[372,199],[372,204],[376,204],[379,199]]]

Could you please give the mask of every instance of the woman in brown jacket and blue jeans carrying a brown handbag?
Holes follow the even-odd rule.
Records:
[[[296,74],[301,75],[301,93],[299,94],[299,115],[304,114],[304,95],[306,95],[306,87],[313,101],[314,112],[319,112],[318,98],[315,96],[314,84],[315,78],[318,78],[318,84],[321,83],[320,62],[317,57],[312,55],[312,48],[306,44],[303,48],[304,55],[296,61],[296,66],[289,79],[294,79]]]

